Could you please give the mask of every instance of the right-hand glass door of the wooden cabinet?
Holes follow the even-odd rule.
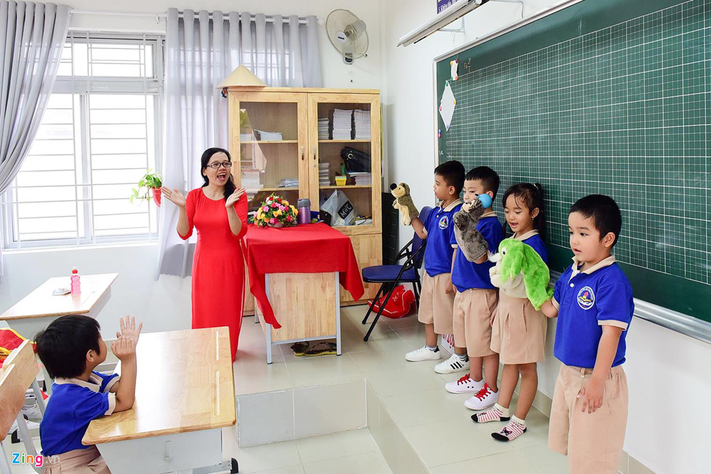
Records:
[[[377,96],[309,94],[311,208],[344,233],[373,232],[380,219],[380,103]]]

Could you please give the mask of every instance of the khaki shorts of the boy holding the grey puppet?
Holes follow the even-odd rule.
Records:
[[[454,345],[466,348],[469,357],[484,357],[491,350],[491,314],[498,303],[498,291],[469,289],[454,296]]]

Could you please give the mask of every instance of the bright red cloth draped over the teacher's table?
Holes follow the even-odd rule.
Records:
[[[273,229],[247,226],[244,238],[250,291],[264,321],[281,328],[264,289],[264,274],[339,272],[341,286],[355,301],[363,296],[358,261],[351,239],[328,225],[306,224]]]

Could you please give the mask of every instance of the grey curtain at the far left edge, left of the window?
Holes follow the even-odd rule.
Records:
[[[0,194],[30,151],[54,87],[68,28],[66,5],[0,1]],[[1,243],[0,239],[0,276]]]

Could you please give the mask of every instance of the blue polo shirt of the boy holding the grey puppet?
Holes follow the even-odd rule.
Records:
[[[486,240],[489,252],[496,253],[498,244],[503,240],[503,227],[501,227],[501,222],[498,222],[496,214],[487,212],[481,216],[476,224],[476,230]],[[452,232],[452,236],[454,237],[454,232]],[[456,243],[456,239],[454,239],[453,243]],[[491,284],[491,276],[488,273],[492,266],[494,266],[493,262],[488,260],[481,264],[469,262],[464,257],[464,252],[461,251],[461,248],[457,247],[456,257],[454,257],[454,270],[451,273],[451,283],[460,293],[472,288],[495,289],[496,286]]]

